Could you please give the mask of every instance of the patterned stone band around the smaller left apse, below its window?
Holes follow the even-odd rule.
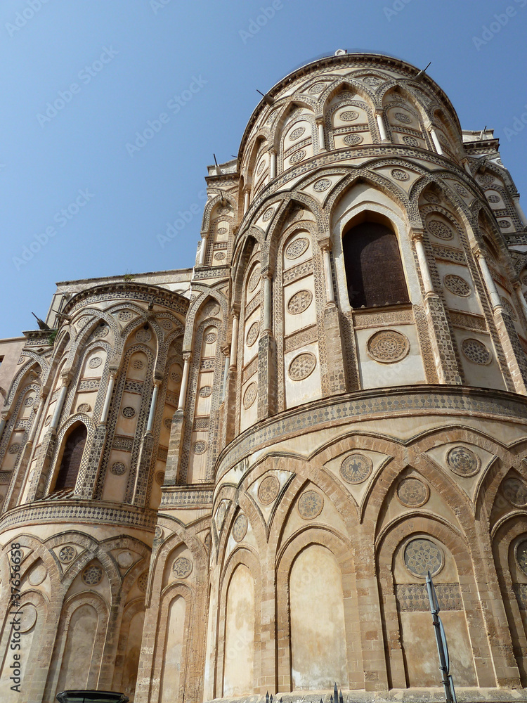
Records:
[[[149,532],[155,530],[157,512],[136,508],[134,505],[96,503],[95,501],[38,501],[22,505],[4,513],[0,520],[0,532],[14,527],[41,522],[74,522],[75,524],[118,524],[139,527]]]

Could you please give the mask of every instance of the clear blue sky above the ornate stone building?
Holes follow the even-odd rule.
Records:
[[[164,248],[157,235],[201,209],[205,167],[238,153],[256,89],[339,48],[431,61],[462,126],[495,129],[527,209],[527,0],[275,0],[264,24],[272,5],[1,2],[0,337],[33,329],[58,280],[193,266],[200,217]]]

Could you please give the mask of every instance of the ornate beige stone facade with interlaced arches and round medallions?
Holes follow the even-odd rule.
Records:
[[[0,342],[2,699],[440,700],[430,570],[459,698],[527,700],[527,220],[493,132],[341,54],[206,180],[193,269],[60,283]],[[373,225],[396,252],[360,265],[406,292],[353,307]]]

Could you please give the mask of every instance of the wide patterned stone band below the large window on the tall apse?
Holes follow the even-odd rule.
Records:
[[[223,449],[216,476],[240,463],[264,446],[313,432],[323,427],[349,425],[358,420],[385,419],[404,415],[448,415],[458,417],[491,417],[522,421],[527,425],[527,398],[495,389],[466,386],[429,386],[419,388],[379,388],[358,391],[284,411],[257,427],[249,427],[226,449]]]

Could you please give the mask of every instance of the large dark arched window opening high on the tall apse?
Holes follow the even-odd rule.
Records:
[[[395,234],[379,222],[363,222],[342,238],[349,303],[353,308],[408,302]]]

